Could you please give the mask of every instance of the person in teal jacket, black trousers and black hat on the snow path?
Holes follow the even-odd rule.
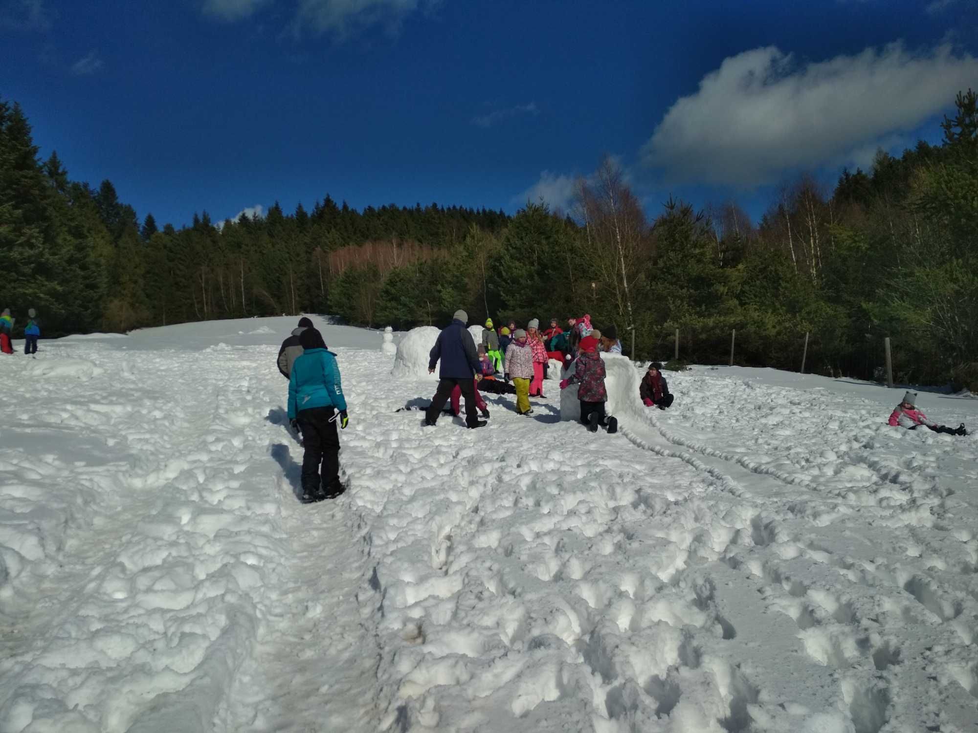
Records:
[[[327,351],[323,334],[313,327],[299,334],[302,354],[289,375],[289,420],[302,431],[303,503],[339,496],[339,433],[349,423],[339,381],[336,355]]]

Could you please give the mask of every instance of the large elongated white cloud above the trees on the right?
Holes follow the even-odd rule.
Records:
[[[978,60],[949,44],[913,54],[895,43],[808,65],[754,49],[724,60],[677,101],[643,159],[670,184],[770,183],[918,128],[976,78]]]

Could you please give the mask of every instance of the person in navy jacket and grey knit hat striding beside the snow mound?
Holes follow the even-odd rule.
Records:
[[[466,327],[467,323],[468,314],[463,310],[456,311],[452,323],[438,334],[438,340],[434,342],[428,355],[428,373],[434,373],[434,367],[439,360],[441,360],[441,370],[438,373],[440,377],[438,389],[424,417],[426,425],[434,425],[438,421],[438,415],[456,386],[466,398],[466,426],[478,428],[486,424],[485,420],[480,420],[475,414],[477,408],[472,380],[479,373],[479,359],[475,351],[475,341]]]

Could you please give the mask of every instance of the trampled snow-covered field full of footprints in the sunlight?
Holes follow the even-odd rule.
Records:
[[[978,729],[978,438],[902,392],[697,367],[616,436],[554,382],[422,428],[435,378],[324,325],[349,491],[303,506],[294,322],[0,358],[0,731]]]

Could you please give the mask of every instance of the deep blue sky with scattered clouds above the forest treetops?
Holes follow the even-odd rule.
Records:
[[[616,156],[758,216],[799,170],[940,138],[971,0],[0,0],[0,96],[43,155],[176,226],[332,194],[566,206]]]

